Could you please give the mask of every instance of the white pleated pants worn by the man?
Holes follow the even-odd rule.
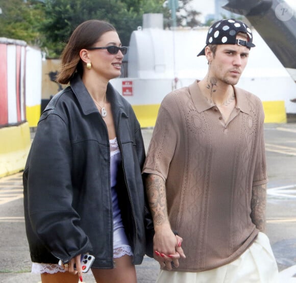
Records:
[[[181,259],[182,260],[182,259]],[[202,272],[161,270],[157,283],[279,283],[279,272],[268,237],[259,232],[235,261]]]

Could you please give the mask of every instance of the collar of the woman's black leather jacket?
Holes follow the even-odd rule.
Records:
[[[87,91],[85,85],[81,80],[81,76],[78,73],[75,73],[73,75],[73,78],[70,81],[70,87],[77,97],[82,111],[85,115],[93,112],[98,112],[89,92]],[[121,95],[118,93],[118,91],[114,89],[111,83],[108,83],[106,93],[108,100],[111,102],[113,115],[117,115],[118,111],[121,110],[122,113],[128,116],[125,111]]]

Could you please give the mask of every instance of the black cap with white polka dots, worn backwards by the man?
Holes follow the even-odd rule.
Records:
[[[249,40],[236,39],[236,34],[242,32],[248,35]],[[248,47],[255,47],[252,43],[253,35],[251,29],[242,21],[235,19],[224,19],[216,21],[209,29],[206,46],[208,44],[238,44]],[[198,56],[205,55],[205,48]]]

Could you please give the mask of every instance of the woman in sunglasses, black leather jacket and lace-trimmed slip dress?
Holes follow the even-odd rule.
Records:
[[[145,151],[130,104],[109,83],[126,52],[100,20],[80,24],[63,51],[57,82],[70,86],[43,111],[23,173],[32,271],[43,283],[82,281],[82,253],[95,256],[96,282],[136,282]]]

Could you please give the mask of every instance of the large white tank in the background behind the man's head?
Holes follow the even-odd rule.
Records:
[[[171,91],[174,78],[178,78],[178,88],[206,75],[207,60],[196,55],[205,46],[207,31],[134,31],[129,47],[129,78],[112,83],[121,91],[122,80],[133,81],[133,96],[126,97],[131,104],[158,104]],[[256,30],[253,35],[256,47],[251,49],[237,86],[262,101],[284,100],[286,112],[296,113],[296,105],[290,101],[296,97],[296,84]]]

